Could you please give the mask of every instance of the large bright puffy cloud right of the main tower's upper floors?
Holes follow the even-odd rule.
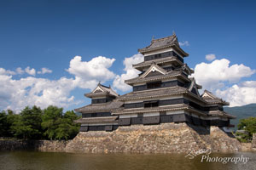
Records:
[[[239,82],[242,77],[250,77],[255,71],[245,65],[230,65],[228,59],[215,59],[212,63],[195,65],[196,82],[203,85],[203,88],[216,90],[223,88],[224,82]]]

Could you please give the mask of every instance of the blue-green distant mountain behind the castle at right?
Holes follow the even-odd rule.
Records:
[[[256,116],[256,104],[224,107],[224,111],[230,113],[230,115],[236,116],[235,120],[231,120],[231,124],[234,124],[236,126],[235,129],[237,129],[237,125],[240,119],[244,119],[249,116]]]

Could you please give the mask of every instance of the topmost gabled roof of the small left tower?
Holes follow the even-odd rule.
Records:
[[[101,83],[98,83],[97,87],[90,92],[89,94],[84,94],[86,97],[96,97],[96,96],[113,96],[117,97],[119,94],[117,94],[115,91],[113,91],[112,88],[102,85]]]

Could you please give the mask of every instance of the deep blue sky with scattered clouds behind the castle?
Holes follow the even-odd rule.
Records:
[[[94,76],[88,75],[88,78],[86,72],[81,76],[78,70],[72,70],[70,64],[75,56],[82,57],[80,62],[104,56],[107,59],[104,65],[115,76],[102,82],[113,85],[116,76],[125,74],[125,58],[137,54],[137,48],[147,46],[153,36],[170,36],[172,31],[176,32],[179,42],[187,42],[182,48],[189,53],[185,62],[191,68],[198,65],[197,70],[202,71],[200,64],[205,62],[207,68],[214,69],[211,67],[212,62],[221,65],[224,62],[221,59],[230,61],[226,69],[230,70],[231,65],[235,65],[232,68],[237,67],[234,74],[242,76],[234,78],[233,75],[225,75],[221,80],[216,80],[218,82],[212,82],[218,83],[218,87],[212,87],[199,79],[202,85],[206,83],[206,87],[211,88],[215,94],[235,102],[237,99],[229,97],[235,93],[234,85],[245,90],[241,95],[256,93],[255,8],[255,1],[0,1],[0,68],[5,70],[0,82],[0,110],[17,110],[23,105],[31,105],[29,101],[55,91],[46,92],[42,86],[41,91],[35,94],[38,98],[33,95],[28,99],[37,81],[58,81],[61,77],[99,81]],[[216,58],[208,61],[207,54],[214,54]],[[141,56],[132,59],[136,60],[136,57]],[[79,59],[76,59],[79,63]],[[108,59],[115,60],[110,62]],[[34,69],[35,74],[26,74],[28,66],[27,71]],[[25,73],[18,74],[18,67]],[[38,74],[42,68],[48,68],[51,73]],[[28,77],[34,79],[28,80]],[[211,76],[208,78],[211,79]],[[14,80],[16,84],[13,84]],[[17,88],[21,83],[19,81],[26,85]],[[52,83],[55,86],[55,82]],[[61,97],[67,97],[64,99],[65,105],[60,106],[66,110],[89,103],[83,94],[90,89],[81,85],[83,82],[79,83],[68,89],[64,85],[60,87],[65,88]],[[14,97],[18,93],[15,89],[21,93],[22,104],[18,97]],[[119,94],[129,91],[116,90]],[[247,98],[235,103],[253,103],[254,98]],[[24,101],[26,99],[27,102]],[[36,104],[44,107],[44,101]],[[70,105],[67,105],[68,101]]]

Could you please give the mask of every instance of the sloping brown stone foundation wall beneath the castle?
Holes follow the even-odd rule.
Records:
[[[241,150],[241,144],[218,127],[195,127],[186,123],[133,125],[113,132],[80,132],[67,144],[67,152],[188,153]]]

